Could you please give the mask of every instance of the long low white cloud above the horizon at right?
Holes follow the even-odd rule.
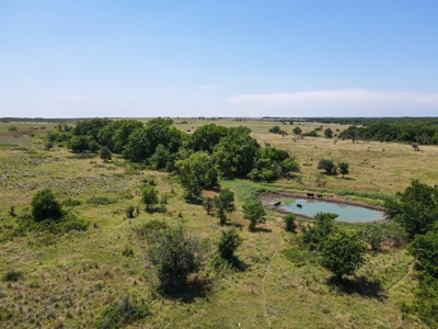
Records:
[[[229,102],[242,110],[251,107],[257,112],[264,111],[265,115],[415,116],[438,114],[438,93],[326,90],[242,94],[231,98]],[[288,114],[285,114],[286,111]]]

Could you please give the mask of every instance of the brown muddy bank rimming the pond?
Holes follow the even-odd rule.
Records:
[[[280,206],[274,205],[274,203],[278,202],[279,198],[281,198],[281,196],[290,197],[290,198],[308,198],[307,194],[284,193],[284,192],[279,192],[279,193],[264,192],[258,195],[258,198],[262,201],[263,205],[268,207],[269,209],[280,213],[280,214],[288,214],[290,212],[287,212],[287,211],[280,208]],[[310,200],[312,200],[312,198],[310,198]],[[366,204],[366,203],[358,202],[358,201],[339,200],[339,198],[333,198],[333,197],[324,197],[324,198],[315,197],[314,200],[319,201],[319,202],[346,204],[346,205],[358,206],[358,207],[362,207],[362,208],[367,208],[367,209],[384,212],[384,208],[381,206],[370,205],[370,204]],[[281,203],[281,205],[283,205],[283,203]],[[306,219],[314,219],[312,216],[304,215],[304,214],[296,214],[296,215],[298,217],[306,218]],[[385,220],[385,219],[382,218],[381,220],[377,220],[377,222],[382,222],[382,220]],[[348,222],[343,222],[343,220],[336,220],[336,222],[348,223]],[[359,222],[355,222],[355,223],[359,223]]]

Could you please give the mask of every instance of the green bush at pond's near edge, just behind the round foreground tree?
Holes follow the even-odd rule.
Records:
[[[314,215],[313,226],[301,226],[302,241],[310,250],[321,250],[325,240],[336,232],[334,219],[337,214],[318,213]]]

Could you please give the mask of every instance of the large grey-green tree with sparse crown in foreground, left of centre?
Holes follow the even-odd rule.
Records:
[[[178,226],[166,229],[158,237],[148,253],[157,266],[161,287],[170,293],[186,284],[187,276],[199,268],[198,240]]]

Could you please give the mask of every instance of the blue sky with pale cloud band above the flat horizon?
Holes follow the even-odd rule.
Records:
[[[0,116],[438,115],[438,1],[0,1]]]

